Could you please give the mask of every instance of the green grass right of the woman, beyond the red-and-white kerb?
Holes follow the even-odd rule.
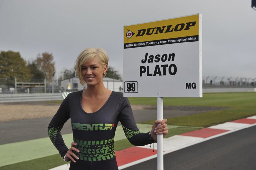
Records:
[[[130,103],[156,104],[156,98],[129,98]],[[169,125],[209,127],[256,115],[256,93],[211,93],[203,98],[164,98],[165,106],[212,106],[226,109],[167,118]],[[152,124],[154,120],[140,123]]]

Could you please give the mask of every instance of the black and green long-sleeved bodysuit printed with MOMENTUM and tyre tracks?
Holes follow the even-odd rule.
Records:
[[[71,170],[118,170],[115,152],[114,136],[118,121],[121,122],[128,140],[136,146],[153,143],[148,133],[141,133],[135,123],[132,109],[123,93],[112,92],[101,109],[94,113],[86,113],[81,105],[82,91],[70,93],[60,105],[52,118],[48,134],[64,157],[68,148],[65,145],[61,129],[71,118],[73,139],[80,150],[75,154],[79,157],[76,163],[71,161]]]

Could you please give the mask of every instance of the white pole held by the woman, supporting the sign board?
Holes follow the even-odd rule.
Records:
[[[163,120],[163,98],[157,97],[157,120]],[[157,170],[164,170],[163,135],[157,135]]]

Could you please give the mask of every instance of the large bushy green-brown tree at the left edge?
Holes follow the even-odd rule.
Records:
[[[1,84],[14,86],[15,77],[17,82],[29,82],[32,75],[26,66],[26,61],[19,52],[1,51],[0,53],[0,80]]]

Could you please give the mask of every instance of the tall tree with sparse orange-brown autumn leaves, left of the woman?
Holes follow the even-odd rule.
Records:
[[[48,83],[52,82],[52,76],[55,72],[55,62],[53,61],[53,55],[48,52],[44,52],[37,55],[36,66],[40,71],[44,73],[46,81]]]

